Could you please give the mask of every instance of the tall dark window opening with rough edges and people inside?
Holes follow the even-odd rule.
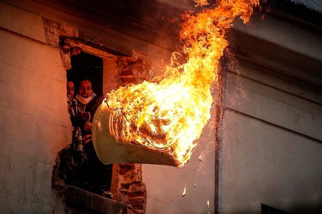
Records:
[[[69,102],[73,142],[61,157],[61,176],[68,185],[112,198],[112,164],[99,161],[91,138],[92,118],[102,101],[103,59],[81,52],[71,56],[71,69],[66,72],[67,90],[71,81],[75,86]]]

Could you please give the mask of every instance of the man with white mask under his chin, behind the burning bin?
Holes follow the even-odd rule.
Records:
[[[92,90],[90,79],[81,79],[78,84],[77,101],[73,107],[77,117],[82,120],[83,144],[88,162],[82,165],[77,175],[77,185],[93,193],[112,198],[110,185],[112,181],[112,165],[104,165],[96,155],[92,144],[92,119],[101,105],[101,99]]]

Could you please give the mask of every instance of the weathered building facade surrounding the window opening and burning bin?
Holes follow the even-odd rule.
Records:
[[[77,5],[60,3],[0,2],[0,210],[125,212],[73,206],[52,187],[58,153],[70,144],[72,131],[66,111],[70,58],[60,42],[90,41],[83,50],[103,59],[104,93],[119,86],[122,57],[141,57],[141,64],[149,62],[145,68],[159,68],[169,62],[175,43],[150,31],[144,38],[132,25],[126,32],[123,23],[103,25],[106,17],[94,20]],[[182,169],[144,164],[129,170],[138,176],[114,177],[145,183],[147,195],[132,199],[138,191],[130,189],[138,186],[128,185],[129,194],[122,195],[125,185],[115,184],[116,200],[142,205],[127,205],[127,213],[264,213],[267,207],[321,213],[321,31],[321,25],[280,10],[256,10],[249,25],[236,21],[212,89],[212,118],[193,156]],[[132,75],[149,75],[142,73]],[[115,170],[128,175],[122,166]]]

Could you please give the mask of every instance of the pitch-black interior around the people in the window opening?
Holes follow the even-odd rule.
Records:
[[[81,52],[71,57],[71,66],[72,68],[67,70],[67,79],[72,80],[75,84],[74,97],[77,94],[77,83],[84,78],[90,79],[92,82],[92,90],[94,90],[95,94],[100,95],[103,93],[103,59]],[[77,154],[73,155],[78,145],[74,145],[74,142],[77,143],[78,139],[74,140],[75,137],[73,137],[71,149],[66,150],[66,154],[61,155],[60,172],[64,175],[63,178],[66,183],[107,198],[112,198],[110,194],[112,165],[104,165],[99,161],[92,141],[90,140],[86,143],[86,140],[84,140],[86,139],[86,134],[88,133],[84,133],[82,130],[82,143],[84,145],[86,159],[84,159],[84,155],[82,155],[82,159]]]

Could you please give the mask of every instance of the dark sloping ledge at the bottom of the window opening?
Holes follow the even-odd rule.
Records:
[[[76,205],[79,209],[99,211],[107,214],[127,213],[126,204],[116,202],[109,198],[99,196],[95,193],[79,189],[77,187],[68,187],[66,189],[66,202]]]

